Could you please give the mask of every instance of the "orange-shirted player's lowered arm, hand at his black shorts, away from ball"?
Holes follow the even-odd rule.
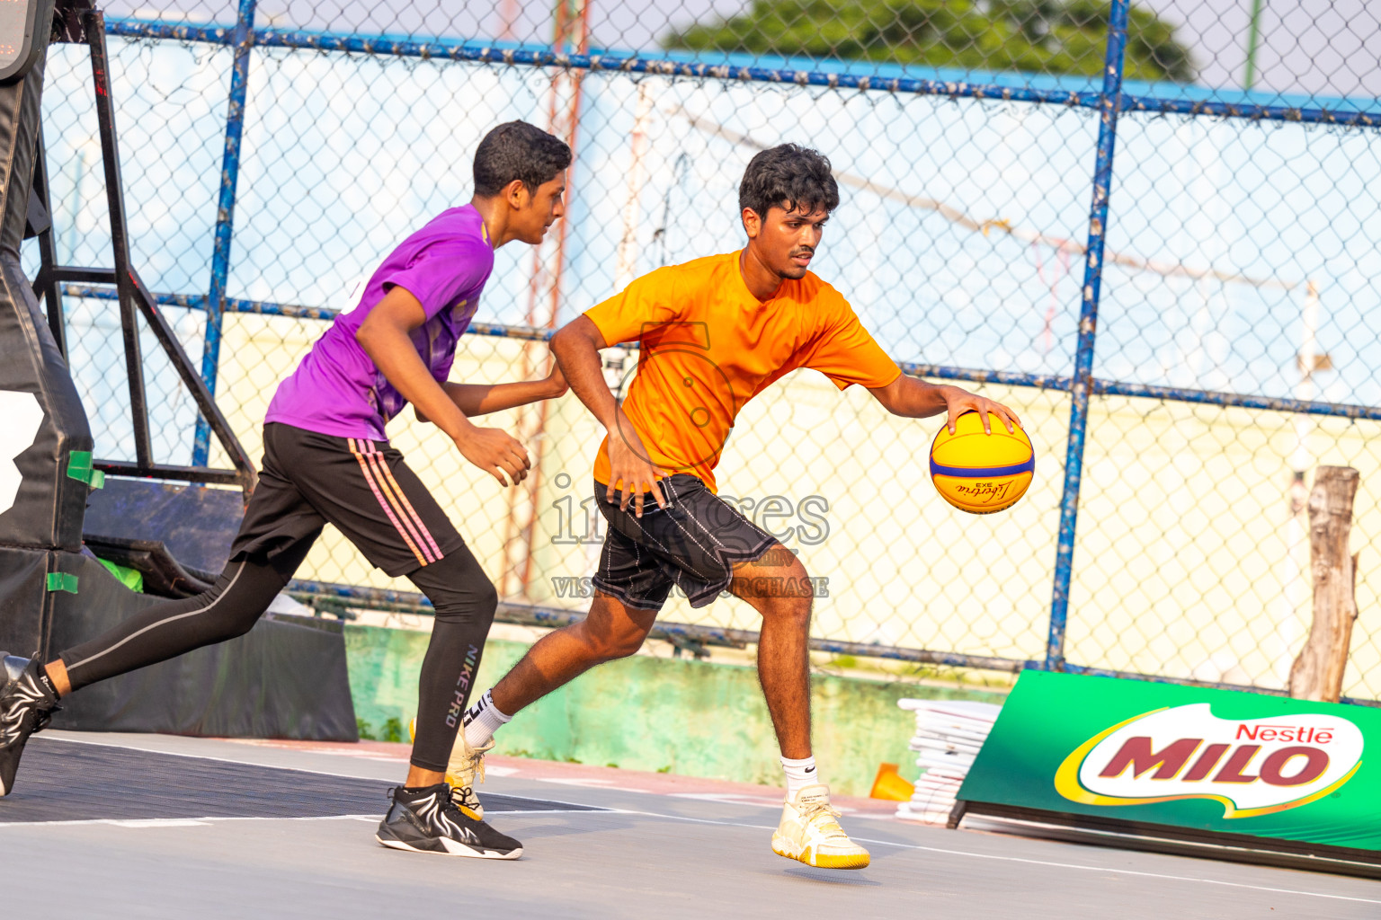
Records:
[[[599,349],[608,346],[599,327],[584,314],[551,337],[551,352],[570,381],[572,392],[609,432],[609,488],[605,498],[612,502],[615,491],[623,483],[619,508],[627,510],[632,501],[632,513],[642,517],[644,492],[652,492],[659,508],[667,506],[657,486],[659,476],[666,473],[648,459],[642,439],[605,383]]]

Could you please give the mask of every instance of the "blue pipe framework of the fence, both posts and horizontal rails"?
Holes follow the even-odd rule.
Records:
[[[760,66],[736,66],[731,63],[708,65],[678,59],[675,55],[642,58],[637,55],[568,52],[550,47],[493,47],[465,41],[410,41],[388,36],[349,36],[329,32],[296,32],[278,29],[254,29],[254,0],[240,0],[239,18],[233,28],[193,26],[162,22],[115,21],[106,23],[110,34],[130,39],[166,39],[177,41],[207,43],[233,47],[235,70],[231,79],[231,102],[226,119],[225,157],[221,175],[221,199],[217,214],[215,258],[213,261],[213,281],[209,297],[188,297],[160,294],[157,303],[175,305],[207,312],[207,352],[203,360],[203,375],[207,390],[214,388],[215,346],[220,341],[220,323],[224,313],[261,313],[269,316],[291,316],[302,319],[334,317],[334,310],[304,308],[267,301],[233,299],[225,294],[229,268],[229,243],[235,183],[239,170],[239,139],[244,117],[244,87],[249,68],[249,50],[253,46],[264,48],[334,51],[369,55],[392,55],[416,59],[457,61],[471,63],[493,63],[519,68],[548,68],[580,73],[619,72],[661,76],[684,76],[695,79],[733,80],[743,83],[797,84],[802,87],[831,87],[849,90],[873,90],[892,94],[945,97],[953,99],[1010,101],[1041,105],[1058,105],[1087,109],[1098,113],[1097,159],[1092,172],[1092,200],[1090,207],[1087,244],[1081,252],[1084,263],[1084,286],[1079,319],[1079,338],[1070,377],[1036,375],[1005,371],[983,371],[934,364],[903,364],[905,372],[938,379],[968,381],[976,383],[1003,383],[1029,386],[1044,390],[1070,393],[1070,425],[1066,444],[1066,472],[1061,497],[1061,519],[1056,541],[1055,575],[1051,596],[1050,630],[1045,655],[1041,661],[1018,661],[942,652],[909,650],[884,646],[862,646],[856,643],[833,643],[812,640],[812,648],[838,654],[869,655],[914,661],[927,663],[981,668],[992,670],[1021,670],[1041,668],[1072,673],[1094,673],[1120,677],[1137,677],[1181,684],[1226,686],[1210,681],[1182,680],[1155,674],[1137,674],[1106,669],[1084,668],[1065,659],[1065,626],[1069,615],[1069,589],[1073,572],[1074,535],[1077,526],[1080,479],[1084,458],[1084,440],[1088,428],[1088,404],[1091,396],[1130,396],[1160,399],[1181,403],[1219,407],[1243,407],[1255,410],[1297,412],[1306,415],[1327,415],[1349,419],[1381,421],[1381,407],[1326,403],[1317,400],[1279,399],[1242,393],[1222,393],[1188,388],[1155,386],[1120,381],[1098,379],[1092,375],[1094,349],[1097,342],[1098,306],[1101,297],[1105,240],[1109,219],[1109,197],[1113,178],[1113,159],[1117,138],[1117,120],[1121,113],[1185,114],[1217,119],[1243,119],[1251,121],[1280,121],[1337,126],[1353,130],[1381,128],[1381,110],[1360,108],[1293,108],[1282,105],[1255,105],[1214,101],[1210,98],[1160,98],[1153,95],[1130,95],[1123,91],[1123,70],[1127,46],[1130,0],[1110,0],[1109,33],[1105,54],[1102,87],[1098,91],[1036,88],[1001,86],[997,83],[971,83],[925,80],[910,77],[876,77],[849,73],[834,73],[824,69],[794,70]],[[1109,257],[1112,258],[1112,257]],[[91,287],[106,279],[64,277],[64,288],[69,295],[112,298],[109,288]],[[142,288],[141,288],[142,290]],[[213,334],[214,327],[214,334]],[[550,338],[551,331],[532,327],[507,327],[476,323],[472,335],[497,335],[529,341]],[[203,443],[199,429],[197,444]],[[200,457],[200,454],[199,454]],[[377,592],[373,589],[326,585],[318,582],[294,582],[294,590],[304,597],[337,599],[358,607],[380,607],[384,610],[425,611],[420,596],[398,592]],[[526,612],[523,612],[526,611]],[[583,614],[577,611],[525,607],[508,611],[505,618],[539,625],[562,625]],[[525,619],[526,618],[526,619]],[[757,640],[747,630],[726,630],[677,623],[659,623],[668,636],[682,636],[702,644],[742,644]],[[1258,692],[1279,692],[1271,688],[1236,687]],[[1349,701],[1369,702],[1369,701]]]

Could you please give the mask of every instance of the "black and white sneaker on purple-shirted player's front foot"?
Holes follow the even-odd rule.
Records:
[[[516,859],[522,844],[467,815],[443,782],[409,792],[396,786],[374,834],[385,847],[479,859]]]

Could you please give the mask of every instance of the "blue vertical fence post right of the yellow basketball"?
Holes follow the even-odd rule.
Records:
[[[1079,310],[1079,346],[1070,379],[1069,447],[1065,451],[1065,492],[1059,499],[1059,539],[1055,550],[1055,589],[1050,601],[1050,637],[1045,669],[1065,666],[1065,628],[1069,622],[1069,583],[1073,577],[1074,524],[1079,517],[1079,486],[1084,468],[1084,434],[1088,430],[1088,394],[1094,383],[1094,338],[1098,331],[1098,297],[1103,277],[1103,239],[1108,230],[1108,190],[1113,178],[1113,146],[1117,112],[1121,109],[1121,74],[1127,51],[1130,0],[1112,0],[1108,14],[1108,55],[1103,91],[1098,103],[1098,159],[1094,166],[1094,203],[1088,212],[1088,259],[1084,262],[1083,306]]]

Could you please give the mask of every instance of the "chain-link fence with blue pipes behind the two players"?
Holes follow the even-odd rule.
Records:
[[[833,161],[812,268],[913,374],[1016,408],[1030,494],[950,509],[932,421],[811,371],[747,406],[722,491],[827,579],[820,647],[1280,688],[1311,617],[1311,470],[1362,473],[1352,668],[1381,697],[1381,12],[1363,0],[435,0],[106,8],[134,263],[253,455],[279,379],[526,119],[576,149],[565,221],[497,263],[456,379],[544,372],[541,338],[659,265],[742,246],[761,148]],[[47,63],[59,259],[108,252],[90,65]],[[29,252],[36,262],[36,254]],[[98,454],[133,455],[112,292],[69,287]],[[156,459],[207,454],[146,375]],[[637,352],[610,359],[612,385]],[[855,392],[856,390],[856,392]],[[601,439],[574,397],[493,423],[500,490],[391,436],[511,603],[583,610]],[[298,578],[388,586],[327,530]],[[363,603],[363,600],[360,601]],[[735,599],[673,623],[754,630]],[[848,646],[853,643],[856,646]]]

